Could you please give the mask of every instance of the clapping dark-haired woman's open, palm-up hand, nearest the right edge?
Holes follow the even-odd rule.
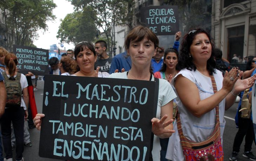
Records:
[[[239,75],[241,75],[241,73]],[[254,85],[255,79],[256,79],[256,74],[247,79],[242,79],[242,80],[241,80],[241,78],[237,79],[237,81],[234,85],[234,88],[233,88],[233,93],[237,94],[239,92],[242,92],[242,91],[252,87]]]

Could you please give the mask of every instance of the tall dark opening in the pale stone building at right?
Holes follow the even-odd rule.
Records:
[[[244,25],[228,28],[228,59],[230,63],[237,63],[232,60],[234,54],[243,58],[243,48]]]

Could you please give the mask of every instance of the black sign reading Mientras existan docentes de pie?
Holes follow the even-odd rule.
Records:
[[[49,73],[49,51],[45,49],[13,45],[13,53],[18,58],[19,72],[26,74],[29,71],[34,75],[44,76]]]

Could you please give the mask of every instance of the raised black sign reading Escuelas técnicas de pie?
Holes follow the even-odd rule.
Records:
[[[174,35],[179,31],[178,6],[142,7],[141,22],[156,35]]]

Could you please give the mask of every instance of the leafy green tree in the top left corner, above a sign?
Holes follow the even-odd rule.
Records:
[[[7,48],[11,50],[13,44],[31,46],[36,32],[47,30],[46,22],[55,19],[55,7],[52,0],[1,0]]]

